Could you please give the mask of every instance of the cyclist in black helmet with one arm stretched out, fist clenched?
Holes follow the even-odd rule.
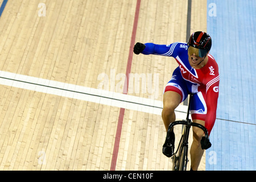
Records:
[[[163,94],[162,119],[166,131],[170,123],[174,122],[176,107],[183,102],[189,93],[191,98],[192,121],[205,126],[210,134],[216,119],[218,86],[220,76],[218,65],[209,54],[212,39],[203,31],[194,32],[188,43],[175,42],[169,45],[154,43],[136,43],[134,53],[143,55],[162,55],[174,57],[179,67],[172,73]],[[203,140],[202,140],[203,138]],[[174,154],[175,134],[171,131],[171,138],[163,144],[163,154],[171,157]],[[203,143],[201,143],[203,142]],[[209,148],[209,140],[204,132],[193,127],[193,142],[191,146],[191,170],[198,169],[204,149]]]

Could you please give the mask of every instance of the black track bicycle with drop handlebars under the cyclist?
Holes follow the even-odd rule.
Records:
[[[183,125],[182,126],[182,135],[180,138],[179,146],[177,147],[176,152],[172,155],[172,162],[173,162],[173,171],[186,171],[187,163],[188,163],[188,137],[189,137],[189,130],[191,126],[199,127],[201,130],[204,131],[205,137],[201,139],[201,148],[207,149],[210,148],[212,144],[209,142],[209,135],[208,130],[199,123],[193,123],[191,119],[189,119],[189,107],[191,102],[192,94],[189,94],[189,102],[188,102],[188,111],[187,111],[187,118],[182,121],[175,121],[172,122],[167,131],[166,138],[170,138],[170,132],[175,125]]]

